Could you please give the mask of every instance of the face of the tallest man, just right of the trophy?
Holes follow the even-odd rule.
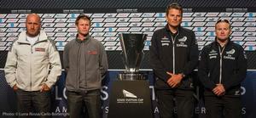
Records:
[[[166,14],[166,20],[167,23],[172,27],[177,27],[181,24],[183,18],[182,18],[182,12],[178,9],[171,8],[169,9],[169,13]]]

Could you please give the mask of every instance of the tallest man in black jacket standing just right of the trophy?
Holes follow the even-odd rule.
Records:
[[[199,53],[195,33],[180,26],[182,15],[179,4],[170,4],[166,8],[166,27],[154,31],[151,40],[149,61],[161,118],[172,118],[175,104],[178,118],[191,118],[194,114],[191,72],[198,64]]]

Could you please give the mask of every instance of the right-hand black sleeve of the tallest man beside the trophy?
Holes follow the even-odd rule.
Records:
[[[195,70],[195,67],[198,65],[198,57],[199,57],[199,51],[198,51],[198,45],[195,39],[195,33],[191,32],[192,39],[190,41],[190,47],[189,47],[189,62],[184,66],[183,68],[183,75],[189,75],[193,70]]]

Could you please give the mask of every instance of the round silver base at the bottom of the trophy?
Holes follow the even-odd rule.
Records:
[[[120,73],[118,76],[119,81],[137,81],[146,80],[142,73]]]

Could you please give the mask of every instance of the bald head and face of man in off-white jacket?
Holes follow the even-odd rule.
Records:
[[[38,36],[40,29],[40,17],[37,14],[29,14],[26,17],[26,34],[29,37],[36,37]]]

